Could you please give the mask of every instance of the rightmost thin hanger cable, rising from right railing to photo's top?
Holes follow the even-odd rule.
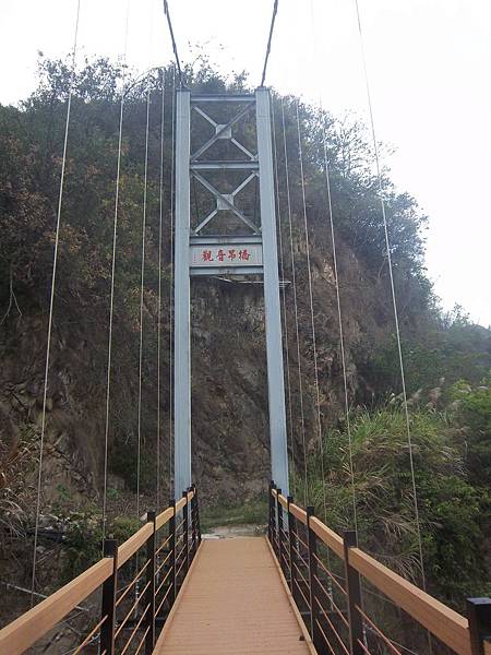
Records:
[[[366,56],[366,51],[364,51],[364,38],[363,38],[363,31],[362,31],[362,26],[361,26],[361,15],[360,15],[360,9],[358,5],[358,0],[355,0],[355,7],[356,7],[356,14],[357,14],[357,20],[358,20],[358,33],[359,33],[359,39],[360,39],[361,58],[362,58],[362,62],[363,62],[364,84],[366,84],[367,102],[368,102],[368,108],[369,108],[369,115],[370,115],[370,126],[371,126],[371,132],[372,132],[373,148],[374,148],[374,155],[375,155],[376,176],[378,176],[378,180],[379,180],[379,198],[380,198],[380,204],[381,204],[381,211],[382,211],[382,221],[383,221],[383,226],[384,226],[384,238],[385,238],[385,249],[386,249],[387,263],[388,263],[388,276],[390,276],[390,282],[391,282],[392,305],[393,305],[393,309],[394,309],[394,322],[395,322],[397,350],[398,350],[399,369],[400,369],[400,382],[402,382],[402,388],[403,388],[404,414],[405,414],[405,419],[406,419],[407,444],[408,444],[408,450],[409,450],[409,464],[410,464],[410,473],[411,473],[412,498],[414,498],[414,505],[415,505],[415,520],[416,520],[416,529],[417,529],[418,547],[419,547],[419,563],[421,567],[422,588],[426,591],[427,581],[426,581],[424,560],[423,560],[423,552],[422,552],[422,537],[421,537],[421,523],[420,523],[420,516],[419,516],[418,489],[416,486],[411,428],[410,428],[410,419],[409,419],[409,409],[407,406],[406,376],[405,376],[405,371],[404,371],[404,358],[403,358],[403,346],[402,346],[402,341],[400,341],[399,317],[398,317],[398,310],[397,310],[397,297],[396,297],[396,291],[395,291],[394,272],[393,272],[392,255],[391,255],[391,239],[388,237],[387,215],[386,215],[386,210],[385,210],[385,201],[384,201],[384,196],[383,196],[382,171],[381,171],[381,167],[380,167],[380,157],[379,157],[379,145],[378,145],[378,141],[376,141],[376,130],[375,130],[375,120],[374,120],[373,106],[372,106],[372,95],[371,95],[371,90],[370,90],[367,56]],[[430,643],[430,648],[431,648],[431,643]]]

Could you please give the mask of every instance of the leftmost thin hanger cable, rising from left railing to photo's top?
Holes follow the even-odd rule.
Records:
[[[37,539],[39,534],[39,512],[40,512],[40,496],[41,496],[41,481],[43,481],[43,454],[45,445],[45,433],[46,433],[46,405],[48,400],[48,376],[49,376],[49,361],[51,355],[51,332],[52,332],[52,314],[55,307],[55,289],[57,279],[57,264],[58,264],[58,246],[60,241],[60,225],[61,225],[61,207],[63,202],[63,187],[64,187],[64,171],[67,166],[67,150],[68,150],[68,136],[70,128],[70,111],[72,106],[72,94],[73,94],[73,82],[75,79],[75,61],[76,61],[76,46],[79,38],[79,23],[80,23],[80,5],[79,0],[76,5],[76,17],[75,17],[75,33],[73,37],[73,50],[72,50],[72,69],[70,72],[70,85],[67,102],[67,119],[64,123],[64,140],[63,140],[63,156],[61,162],[61,175],[60,175],[60,188],[58,193],[58,211],[57,211],[57,224],[55,235],[55,250],[52,259],[52,273],[51,273],[51,294],[49,298],[49,314],[48,314],[48,333],[46,342],[46,364],[45,364],[45,380],[44,380],[44,392],[43,392],[43,415],[41,415],[41,433],[39,439],[39,463],[37,472],[37,499],[36,499],[36,521],[34,527],[34,549],[33,549],[33,576],[31,581],[31,606],[34,605],[34,592],[36,585],[36,563],[37,563]]]

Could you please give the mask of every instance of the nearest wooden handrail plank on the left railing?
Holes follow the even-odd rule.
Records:
[[[0,630],[0,653],[20,655],[63,619],[112,573],[106,557]]]

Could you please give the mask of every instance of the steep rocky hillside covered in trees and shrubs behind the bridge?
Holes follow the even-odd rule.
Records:
[[[196,91],[242,91],[243,74],[226,80],[206,63],[189,69]],[[127,71],[128,74],[128,71]],[[87,61],[74,80],[65,192],[60,233],[55,332],[49,376],[47,475],[44,508],[59,513],[100,505],[107,324],[111,275],[120,94],[123,69]],[[165,80],[164,178],[160,188],[160,121]],[[0,107],[0,427],[3,536],[32,526],[33,458],[37,454],[43,395],[46,315],[70,73],[64,62],[39,61],[39,84],[17,108]],[[128,82],[128,78],[127,78]],[[172,201],[172,70],[136,79],[124,104],[118,255],[116,266],[113,392],[109,500],[115,515],[121,495],[135,488],[137,436],[137,344],[142,203],[145,168],[146,94],[149,88],[149,158],[144,289],[144,367],[141,488],[155,504],[157,404],[161,409],[161,462],[169,457],[169,281]],[[309,441],[309,487],[319,508],[326,492],[327,520],[352,523],[352,480],[344,415],[336,287],[327,210],[324,129],[331,167],[333,219],[345,329],[351,405],[354,486],[363,545],[391,565],[418,579],[407,436],[390,291],[383,224],[373,175],[373,152],[364,127],[299,104],[307,213],[313,269],[314,320],[319,347],[324,468],[315,444],[316,406],[307,252],[299,182],[297,98],[275,96],[278,206],[287,213],[285,155],[289,159],[294,250],[298,285],[300,364]],[[282,124],[285,109],[285,134]],[[203,134],[204,134],[203,128]],[[194,134],[199,138],[200,133]],[[411,397],[416,481],[422,517],[423,553],[431,590],[455,603],[486,590],[491,486],[491,333],[472,325],[462,310],[439,309],[424,270],[427,217],[415,199],[398,192],[383,172],[394,277],[399,299],[404,358]],[[157,306],[159,199],[164,198],[161,307]],[[255,203],[254,200],[251,202]],[[195,205],[195,206],[194,206]],[[206,202],[193,198],[193,211]],[[251,204],[250,211],[255,206]],[[288,230],[280,227],[284,243]],[[289,249],[284,252],[289,278]],[[288,279],[287,279],[288,281]],[[291,282],[291,281],[289,281]],[[202,498],[258,499],[268,479],[267,406],[261,291],[223,281],[193,289],[194,466]],[[290,288],[290,286],[288,286]],[[287,294],[290,291],[287,290]],[[287,307],[291,305],[287,298]],[[163,317],[161,394],[156,392],[157,315]],[[294,457],[302,467],[295,374],[297,349],[290,335]],[[232,364],[235,361],[235,364]],[[484,380],[482,382],[482,380]],[[165,485],[170,480],[165,471]],[[164,474],[163,474],[164,476]],[[121,479],[125,489],[118,485]],[[19,485],[19,481],[22,484]],[[298,480],[297,480],[298,481]],[[299,483],[298,483],[299,484]],[[60,486],[61,485],[61,486]],[[164,485],[164,483],[163,483]],[[299,497],[301,498],[301,489]],[[166,498],[166,495],[164,495]],[[14,503],[14,504],[12,504]],[[111,503],[110,503],[111,504]],[[128,510],[129,503],[124,505]],[[91,510],[94,511],[93,509]],[[83,513],[80,521],[87,525]],[[81,552],[76,516],[71,522],[70,560],[75,570],[94,552]],[[94,539],[98,532],[94,528]],[[83,550],[83,549],[82,549]],[[26,577],[28,572],[25,572]]]

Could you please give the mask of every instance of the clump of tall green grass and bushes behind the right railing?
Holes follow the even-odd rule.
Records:
[[[362,547],[386,565],[421,582],[415,497],[405,413],[395,406],[351,417],[346,430],[324,440],[325,484],[320,454],[310,462],[311,495],[326,500],[326,520],[337,531],[357,525]],[[484,527],[490,505],[467,478],[444,415],[410,413],[415,483],[429,588],[454,605],[486,590]],[[351,450],[351,458],[350,458]],[[352,479],[351,479],[352,461]]]

